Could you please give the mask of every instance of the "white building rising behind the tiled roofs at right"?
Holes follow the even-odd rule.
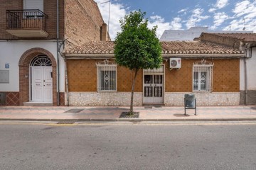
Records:
[[[208,27],[191,27],[188,30],[164,30],[161,41],[193,41],[201,33],[253,33],[245,30],[208,30]]]

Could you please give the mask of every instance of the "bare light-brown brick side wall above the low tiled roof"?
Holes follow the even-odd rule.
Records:
[[[95,1],[65,1],[65,38],[76,45],[91,40],[100,41],[100,28],[103,23]]]

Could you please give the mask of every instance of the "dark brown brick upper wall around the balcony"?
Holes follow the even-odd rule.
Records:
[[[46,32],[48,38],[17,38],[6,32],[6,10],[22,10],[23,0],[4,0],[0,6],[0,39],[56,39],[57,38],[57,2],[53,0],[44,0],[43,12],[48,15],[46,20]],[[64,38],[64,0],[59,1],[59,33],[60,39]]]

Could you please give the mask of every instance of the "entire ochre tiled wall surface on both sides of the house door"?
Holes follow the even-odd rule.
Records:
[[[96,63],[102,60],[68,60],[68,86],[70,92],[97,91]],[[169,62],[165,64],[165,92],[192,92],[193,63],[201,60],[182,59],[181,69],[169,70]],[[213,62],[213,92],[239,92],[240,60],[209,60]],[[134,72],[117,66],[117,91],[129,92],[132,89]],[[139,71],[135,84],[135,92],[143,90],[143,72]]]

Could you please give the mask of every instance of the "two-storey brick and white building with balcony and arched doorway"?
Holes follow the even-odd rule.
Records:
[[[95,1],[1,1],[0,105],[64,105],[64,40],[110,40]]]

